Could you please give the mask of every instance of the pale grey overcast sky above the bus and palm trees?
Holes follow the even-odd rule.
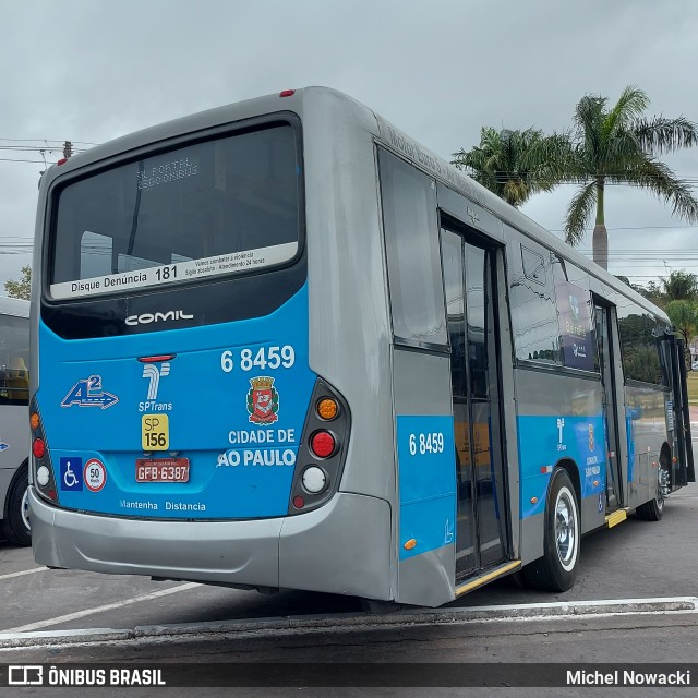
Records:
[[[585,94],[615,103],[627,85],[648,116],[698,121],[696,0],[0,0],[0,294],[31,262],[17,251],[43,160],[65,140],[89,147],[306,85],[348,93],[446,159],[483,125],[565,130]],[[665,159],[698,182],[698,149]],[[522,210],[562,234],[573,191]],[[606,226],[613,274],[698,273],[698,227],[651,194],[610,188]]]

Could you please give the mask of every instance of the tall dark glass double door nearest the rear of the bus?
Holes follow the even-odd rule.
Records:
[[[455,226],[454,226],[455,227]],[[456,581],[508,551],[495,248],[441,231],[456,438]]]

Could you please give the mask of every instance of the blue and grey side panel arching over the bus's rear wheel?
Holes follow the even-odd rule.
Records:
[[[516,384],[521,462],[521,562],[528,564],[543,554],[547,486],[558,462],[570,460],[577,467],[582,532],[604,522],[601,383],[558,372],[518,369]]]

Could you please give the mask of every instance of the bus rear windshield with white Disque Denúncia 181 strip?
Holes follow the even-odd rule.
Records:
[[[50,294],[70,299],[257,272],[299,249],[289,124],[160,152],[58,193]]]

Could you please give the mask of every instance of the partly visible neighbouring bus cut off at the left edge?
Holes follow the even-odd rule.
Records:
[[[29,545],[29,301],[0,298],[0,538]]]

